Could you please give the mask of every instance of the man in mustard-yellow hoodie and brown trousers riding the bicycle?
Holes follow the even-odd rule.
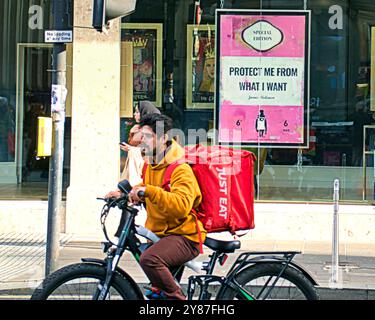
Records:
[[[134,186],[129,194],[133,203],[146,202],[146,228],[161,238],[142,255],[140,264],[153,287],[163,291],[167,299],[185,300],[170,268],[183,265],[200,252],[206,230],[193,213],[202,201],[202,194],[191,167],[182,163],[172,173],[170,191],[162,188],[167,167],[184,158],[184,149],[168,131],[172,119],[160,114],[147,115],[141,122],[141,151],[147,169],[142,184]],[[144,192],[140,199],[138,192]],[[119,190],[106,197],[119,197]]]

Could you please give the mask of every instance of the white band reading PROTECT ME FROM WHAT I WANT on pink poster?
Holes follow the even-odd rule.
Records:
[[[221,65],[221,96],[233,104],[303,104],[303,58],[222,57]]]

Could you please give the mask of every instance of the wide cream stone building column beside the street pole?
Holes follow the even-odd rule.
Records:
[[[72,132],[66,232],[101,234],[103,197],[119,178],[120,21],[91,28],[92,0],[74,1]],[[69,66],[68,66],[69,68]]]

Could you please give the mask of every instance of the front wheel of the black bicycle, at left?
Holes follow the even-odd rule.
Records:
[[[93,300],[105,281],[106,268],[100,265],[78,263],[50,274],[35,289],[31,300]],[[137,300],[132,284],[115,273],[107,300]]]

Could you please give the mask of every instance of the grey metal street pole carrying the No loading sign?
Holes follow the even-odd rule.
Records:
[[[65,0],[52,0],[53,28],[66,26]],[[61,197],[64,156],[64,125],[66,97],[66,49],[64,43],[55,43],[52,57],[51,117],[53,123],[53,151],[49,162],[48,225],[45,274],[58,266],[60,250]]]

